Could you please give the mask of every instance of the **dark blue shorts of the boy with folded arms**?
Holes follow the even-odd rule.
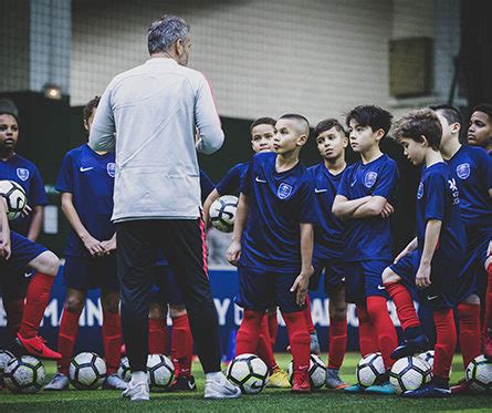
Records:
[[[381,281],[381,273],[388,265],[387,259],[344,262],[345,301],[360,304],[373,296],[389,299]]]

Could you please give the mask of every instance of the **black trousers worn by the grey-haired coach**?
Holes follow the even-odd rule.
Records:
[[[132,371],[145,371],[148,303],[157,249],[182,289],[191,333],[206,373],[220,371],[219,324],[207,273],[201,219],[148,219],[116,224],[122,330]]]

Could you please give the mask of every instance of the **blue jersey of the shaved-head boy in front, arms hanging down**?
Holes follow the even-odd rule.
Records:
[[[275,153],[259,153],[248,166],[241,193],[250,202],[240,265],[264,271],[301,269],[302,223],[316,223],[314,184],[304,165],[278,173]]]

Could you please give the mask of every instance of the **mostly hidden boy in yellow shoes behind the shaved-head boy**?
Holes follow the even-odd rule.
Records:
[[[250,126],[251,134],[251,147],[255,153],[271,152],[272,141],[275,133],[276,121],[272,117],[260,117],[255,120]],[[216,188],[209,194],[203,203],[205,221],[208,225],[208,216],[210,206],[212,203],[222,195],[237,195],[239,196],[241,183],[244,180],[245,173],[248,171],[248,162],[235,164],[226,176],[217,184]],[[307,309],[308,310],[308,309]],[[268,318],[262,321],[262,329],[260,333],[260,340],[258,349],[254,352],[258,354],[268,365],[270,370],[269,386],[273,388],[290,388],[287,373],[280,369],[275,357],[273,355],[273,347],[276,340],[276,331],[279,327],[276,307],[268,310]],[[311,319],[311,312],[310,312]],[[312,324],[312,322],[311,322]],[[314,327],[313,327],[314,330]],[[310,335],[312,347],[314,351],[320,352],[320,344],[317,344],[317,335],[314,332]],[[314,344],[313,344],[314,343]]]

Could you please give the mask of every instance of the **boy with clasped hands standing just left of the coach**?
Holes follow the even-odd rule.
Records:
[[[84,107],[84,126],[88,132],[100,102],[93,99]],[[116,235],[113,214],[114,153],[96,153],[87,144],[70,151],[63,158],[56,182],[62,194],[62,210],[71,225],[66,248],[64,281],[66,300],[60,322],[57,350],[62,359],[57,373],[45,390],[69,389],[69,364],[78,332],[78,319],[87,291],[101,288],[103,307],[102,338],[107,376],[104,389],[125,390],[118,378],[122,328],[119,283],[116,272]]]

